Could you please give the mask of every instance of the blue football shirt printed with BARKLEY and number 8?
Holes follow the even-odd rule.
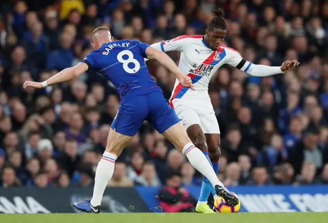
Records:
[[[161,92],[150,76],[144,58],[149,44],[137,40],[106,42],[89,53],[82,62],[105,76],[116,87],[121,102],[131,96]]]

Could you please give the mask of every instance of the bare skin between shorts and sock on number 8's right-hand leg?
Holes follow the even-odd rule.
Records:
[[[178,150],[182,152],[183,147],[191,142],[187,136],[185,127],[183,127],[181,122],[178,122],[167,130],[162,132],[162,135],[165,136]]]

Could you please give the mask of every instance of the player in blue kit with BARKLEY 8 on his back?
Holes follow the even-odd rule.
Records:
[[[96,169],[92,199],[72,206],[83,212],[100,212],[101,198],[113,175],[115,161],[145,120],[187,156],[195,169],[209,179],[218,196],[222,196],[230,205],[237,205],[238,198],[224,188],[205,155],[188,138],[175,111],[165,100],[161,88],[150,76],[144,58],[158,60],[177,77],[182,86],[193,89],[191,78],[183,74],[165,53],[137,40],[113,41],[111,33],[105,27],[95,29],[92,40],[95,50],[76,66],[67,68],[42,83],[24,83],[24,88],[42,88],[71,80],[92,69],[108,78],[120,95],[121,105],[109,131],[106,150]]]

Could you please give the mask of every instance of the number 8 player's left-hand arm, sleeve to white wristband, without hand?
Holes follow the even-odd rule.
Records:
[[[86,63],[80,62],[76,66],[72,66],[71,68],[66,68],[63,71],[60,71],[56,75],[54,75],[51,78],[49,78],[48,80],[46,80],[46,85],[50,86],[50,85],[53,85],[56,83],[69,81],[69,80],[85,73],[86,71],[88,71],[88,69],[89,69],[89,66]]]

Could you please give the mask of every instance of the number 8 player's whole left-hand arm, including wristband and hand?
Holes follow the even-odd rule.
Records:
[[[26,88],[28,86],[34,87],[34,88],[42,88],[46,86],[50,86],[56,83],[61,83],[65,81],[69,81],[75,77],[77,77],[80,74],[85,73],[88,71],[88,65],[84,62],[78,63],[76,66],[72,66],[71,68],[66,68],[63,71],[60,71],[56,75],[52,76],[48,80],[44,82],[34,82],[34,81],[25,81],[23,87]]]

